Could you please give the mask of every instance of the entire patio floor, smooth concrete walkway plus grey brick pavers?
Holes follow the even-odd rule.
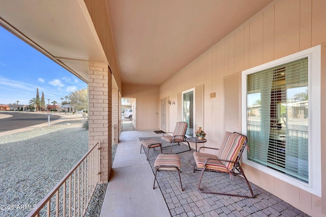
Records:
[[[178,173],[161,171],[153,190],[153,162],[160,153],[150,149],[149,161],[140,139],[159,137],[153,131],[123,131],[117,148],[113,169],[108,182],[101,217],[104,216],[309,216],[254,184],[255,198],[202,194],[197,190],[199,172],[193,173],[193,151],[180,153],[180,190]],[[163,145],[165,146],[165,145]],[[186,148],[187,145],[184,145]],[[174,147],[177,151],[179,146]],[[164,149],[169,152],[170,148]],[[203,188],[246,191],[244,180],[236,176],[213,173],[203,179]],[[234,184],[233,184],[234,183]],[[244,189],[244,190],[243,190]]]

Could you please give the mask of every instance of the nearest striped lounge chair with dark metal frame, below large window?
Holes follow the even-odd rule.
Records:
[[[222,141],[220,148],[211,148],[211,147],[200,147],[198,152],[194,152],[195,167],[201,168],[201,175],[198,183],[198,190],[202,193],[207,194],[219,194],[219,195],[228,195],[228,196],[238,196],[253,198],[255,197],[253,190],[251,189],[250,183],[246,176],[243,173],[243,170],[239,164],[239,160],[244,148],[248,147],[247,137],[238,133],[226,132]],[[209,148],[219,150],[217,155],[200,152],[202,148]],[[239,194],[229,194],[229,193],[220,193],[220,192],[207,192],[200,189],[200,184],[203,178],[205,171],[210,172],[224,172],[229,173],[232,177],[234,175],[242,175],[244,180],[246,180],[249,187],[251,196],[248,195],[239,195]]]

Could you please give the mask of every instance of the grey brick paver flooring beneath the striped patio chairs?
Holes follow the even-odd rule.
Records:
[[[160,141],[159,137],[152,138]],[[162,144],[162,146],[167,145],[167,143]],[[186,149],[185,145],[183,147],[176,145],[173,146],[172,152],[177,153]],[[170,146],[163,149],[163,153],[169,152]],[[193,152],[194,150],[179,153],[183,191],[180,189],[177,172],[157,172],[159,188],[172,216],[309,216],[252,183],[255,198],[200,193],[198,191],[200,171],[193,173],[195,163]],[[149,151],[148,160],[152,169],[159,153],[158,148],[155,150],[151,148]],[[227,173],[205,172],[201,188],[209,191],[232,191],[250,195],[242,177],[230,178]]]

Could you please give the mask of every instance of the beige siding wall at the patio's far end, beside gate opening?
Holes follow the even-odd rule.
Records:
[[[137,130],[159,129],[160,108],[158,86],[123,83],[121,96],[122,98],[136,99],[135,119]]]

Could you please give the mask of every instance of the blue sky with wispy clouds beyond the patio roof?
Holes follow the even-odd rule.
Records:
[[[0,26],[0,104],[28,105],[44,92],[47,99],[61,103],[70,92],[84,89],[87,84],[18,39]],[[64,99],[65,100],[65,99]]]

